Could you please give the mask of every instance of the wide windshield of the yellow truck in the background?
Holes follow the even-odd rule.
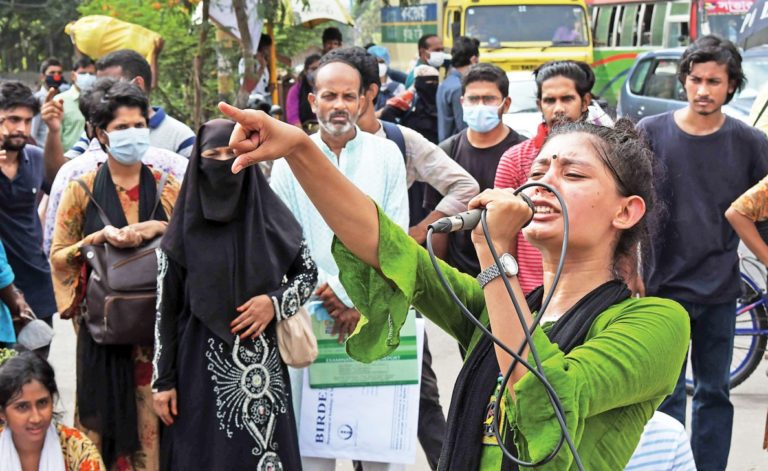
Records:
[[[464,31],[483,47],[537,42],[588,46],[586,13],[572,5],[496,5],[466,10]]]

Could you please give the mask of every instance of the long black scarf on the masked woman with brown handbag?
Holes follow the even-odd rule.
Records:
[[[99,167],[92,193],[114,227],[128,225],[108,164]],[[162,205],[154,209],[155,201],[157,183],[152,171],[142,165],[139,179],[139,222],[168,220]],[[89,201],[85,210],[83,234],[90,235],[103,228],[104,223],[99,218],[96,206]],[[99,345],[85,324],[81,324],[77,353],[78,417],[80,423],[101,435],[101,456],[109,468],[118,456],[130,455],[140,447],[133,346]]]

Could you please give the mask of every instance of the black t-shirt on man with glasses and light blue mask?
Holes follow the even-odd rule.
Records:
[[[451,145],[451,139],[456,139]],[[510,129],[507,137],[495,146],[479,149],[469,143],[467,130],[464,129],[452,138],[446,139],[440,147],[456,162],[459,163],[470,175],[475,177],[480,185],[480,191],[493,188],[496,178],[496,168],[499,166],[502,154],[510,147],[525,140],[514,130]],[[452,148],[452,152],[451,152]],[[440,193],[434,188],[427,189],[424,197],[424,207],[434,210],[442,199]],[[472,244],[470,231],[454,232],[448,236],[448,255],[446,262],[472,276],[480,274],[480,262],[477,260],[475,246]]]

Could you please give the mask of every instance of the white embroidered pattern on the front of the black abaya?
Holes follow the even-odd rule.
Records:
[[[216,394],[219,428],[232,437],[233,430],[245,430],[254,440],[254,456],[263,455],[259,470],[283,469],[272,441],[278,414],[287,412],[286,384],[281,373],[277,345],[260,335],[250,348],[235,337],[232,352],[222,342],[208,340],[208,371]]]

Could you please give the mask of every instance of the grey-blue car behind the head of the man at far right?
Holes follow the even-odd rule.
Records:
[[[685,48],[660,49],[638,56],[621,87],[618,116],[639,121],[685,107],[685,89],[677,79],[677,66],[684,51]],[[768,83],[768,46],[749,49],[742,57],[747,83],[723,111],[746,122],[760,87]]]

